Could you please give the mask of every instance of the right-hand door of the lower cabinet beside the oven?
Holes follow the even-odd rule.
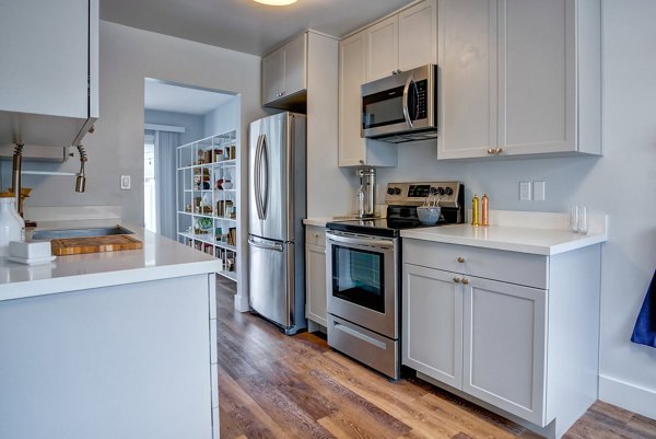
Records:
[[[462,391],[543,426],[547,291],[467,279]]]

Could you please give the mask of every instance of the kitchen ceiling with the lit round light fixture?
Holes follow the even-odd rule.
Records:
[[[265,55],[312,28],[342,37],[411,0],[298,0],[268,7],[253,0],[101,0],[101,19]]]

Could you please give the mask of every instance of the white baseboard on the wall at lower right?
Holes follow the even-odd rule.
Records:
[[[656,391],[599,376],[599,400],[656,419]]]

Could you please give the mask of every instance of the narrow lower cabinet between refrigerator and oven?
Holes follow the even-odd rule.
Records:
[[[326,229],[307,226],[305,231],[305,317],[328,326],[326,297]]]

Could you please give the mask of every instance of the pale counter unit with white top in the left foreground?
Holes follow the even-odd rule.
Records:
[[[124,227],[142,250],[0,258],[1,438],[219,436],[218,262]]]

